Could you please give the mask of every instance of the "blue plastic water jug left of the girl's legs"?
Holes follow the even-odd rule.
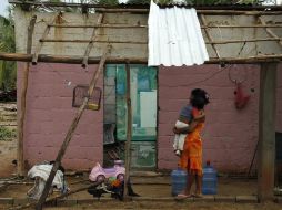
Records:
[[[178,168],[171,172],[171,195],[177,196],[187,187],[187,171]]]

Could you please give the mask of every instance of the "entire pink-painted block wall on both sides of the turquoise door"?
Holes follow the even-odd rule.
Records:
[[[19,63],[18,94],[21,90],[22,67],[23,64]],[[88,72],[80,65],[67,64],[38,64],[31,67],[24,127],[24,159],[30,166],[56,158],[77,113],[77,108],[71,106],[72,90],[77,84],[88,84],[95,67],[90,66]],[[228,69],[220,71],[218,65],[160,67],[158,168],[177,167],[178,158],[172,151],[172,127],[180,108],[188,103],[190,91],[201,87],[211,97],[203,130],[203,159],[210,159],[221,171],[242,172],[249,169],[259,133],[260,66],[236,65],[235,69],[242,69],[241,72],[245,70],[243,90],[251,94],[248,106],[241,111],[235,109],[233,104],[235,86],[229,80]],[[68,81],[72,82],[71,86],[68,86]],[[282,65],[278,72],[278,132],[282,132],[281,84]],[[102,76],[99,86],[103,87]],[[253,93],[251,88],[254,88]],[[99,112],[84,112],[63,158],[66,168],[88,169],[97,161],[102,162],[102,108]]]

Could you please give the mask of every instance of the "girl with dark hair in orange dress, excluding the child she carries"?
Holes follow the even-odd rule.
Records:
[[[201,90],[202,94],[193,95],[191,93],[190,102],[193,106],[192,116],[193,120],[188,129],[175,129],[174,133],[182,134],[188,133],[185,143],[183,146],[183,153],[181,154],[179,166],[188,171],[187,187],[184,191],[178,195],[179,199],[189,197],[201,197],[202,188],[202,138],[201,130],[204,126],[205,115],[204,106],[209,103],[205,91]],[[195,180],[195,193],[190,192],[193,181]]]

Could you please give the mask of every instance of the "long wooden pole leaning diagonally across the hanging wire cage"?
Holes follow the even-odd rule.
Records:
[[[70,128],[69,128],[69,130],[67,133],[67,136],[66,136],[66,138],[64,138],[64,140],[62,143],[62,146],[61,146],[61,148],[60,148],[60,150],[59,150],[59,153],[57,155],[56,162],[53,164],[52,170],[51,170],[51,172],[49,175],[49,178],[48,178],[48,180],[46,182],[43,192],[42,192],[42,195],[41,195],[41,197],[40,197],[40,199],[38,201],[37,210],[41,210],[42,209],[42,206],[43,206],[43,203],[46,201],[46,198],[47,198],[47,196],[49,193],[50,187],[51,187],[51,185],[53,182],[54,175],[56,175],[59,166],[61,165],[62,157],[63,157],[63,155],[64,155],[64,153],[67,150],[67,147],[68,147],[68,145],[69,145],[73,134],[74,134],[74,130],[75,130],[75,128],[77,128],[77,126],[79,124],[79,120],[80,120],[80,118],[81,118],[81,116],[82,116],[82,114],[83,114],[83,112],[84,112],[84,109],[85,109],[85,107],[88,105],[89,97],[93,93],[93,90],[94,90],[94,87],[97,85],[99,75],[100,75],[101,71],[103,70],[103,66],[104,66],[104,63],[105,63],[105,59],[107,59],[108,54],[110,53],[110,50],[111,50],[111,46],[108,46],[105,49],[105,51],[104,51],[104,53],[103,53],[103,55],[102,55],[102,57],[100,60],[98,70],[94,72],[93,77],[90,81],[89,90],[88,90],[88,96],[84,97],[83,103],[79,107],[79,111],[77,112],[77,115],[74,116],[74,118],[73,118],[73,120],[71,123],[71,126],[70,126]]]

